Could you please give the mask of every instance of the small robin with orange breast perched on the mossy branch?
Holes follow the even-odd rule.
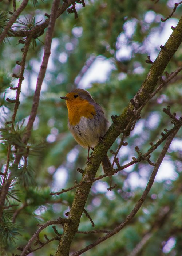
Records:
[[[68,108],[68,127],[80,146],[94,150],[99,140],[105,135],[109,121],[104,115],[103,108],[84,89],[74,89],[65,97]],[[111,167],[107,154],[102,159],[103,169]]]

